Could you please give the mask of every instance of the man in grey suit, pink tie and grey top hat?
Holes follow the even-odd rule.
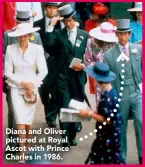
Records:
[[[116,73],[113,82],[119,99],[123,117],[122,126],[122,152],[124,161],[127,157],[127,125],[131,114],[134,119],[136,144],[139,163],[142,163],[142,48],[138,44],[128,42],[130,37],[130,20],[117,20],[116,35],[119,43],[104,54],[104,62]]]

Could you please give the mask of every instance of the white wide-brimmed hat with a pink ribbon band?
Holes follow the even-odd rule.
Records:
[[[104,41],[104,42],[118,42],[118,38],[115,34],[116,27],[114,27],[109,22],[104,22],[101,24],[101,26],[92,29],[89,34],[91,37],[94,37],[98,40]]]

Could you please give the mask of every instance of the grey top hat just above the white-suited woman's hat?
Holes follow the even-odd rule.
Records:
[[[30,21],[31,19],[30,11],[18,11],[17,10],[17,15],[15,16],[15,19],[17,22]]]

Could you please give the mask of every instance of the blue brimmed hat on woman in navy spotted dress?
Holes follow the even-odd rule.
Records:
[[[95,65],[93,66],[86,67],[85,71],[95,80],[103,83],[110,83],[116,78],[116,74],[110,71],[107,64],[102,62],[95,63]]]

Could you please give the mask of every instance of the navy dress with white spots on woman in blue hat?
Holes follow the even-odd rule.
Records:
[[[122,115],[116,107],[117,92],[112,88],[101,95],[98,114],[111,124],[96,123],[96,139],[94,140],[86,164],[123,164],[121,151]],[[113,115],[111,115],[113,114]]]

